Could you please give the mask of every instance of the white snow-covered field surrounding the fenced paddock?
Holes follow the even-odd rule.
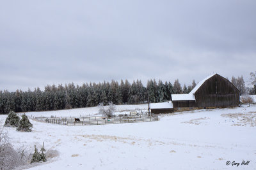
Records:
[[[119,111],[147,104],[118,106]],[[96,114],[83,108],[28,115]],[[5,120],[6,115],[1,115]],[[15,148],[34,145],[60,156],[31,169],[256,169],[256,106],[159,115],[158,122],[65,126],[35,122],[32,132],[8,127]],[[250,161],[248,165],[241,165]],[[226,165],[230,161],[230,165]],[[232,162],[239,163],[232,167]],[[234,163],[233,163],[234,164]]]

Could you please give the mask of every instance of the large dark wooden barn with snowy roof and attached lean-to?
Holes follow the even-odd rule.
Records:
[[[239,106],[239,90],[219,74],[200,81],[189,94],[172,94],[173,108]]]

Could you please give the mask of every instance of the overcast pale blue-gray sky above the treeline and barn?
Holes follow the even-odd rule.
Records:
[[[0,90],[256,71],[256,1],[1,1]]]

